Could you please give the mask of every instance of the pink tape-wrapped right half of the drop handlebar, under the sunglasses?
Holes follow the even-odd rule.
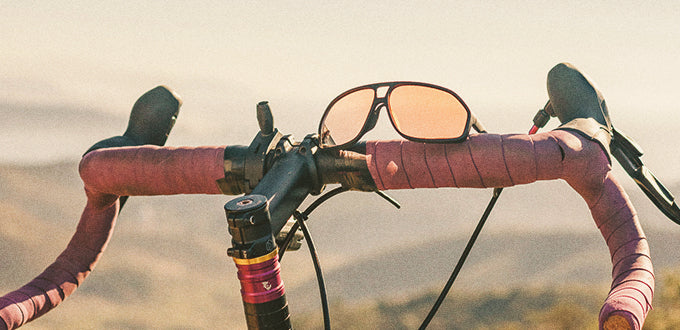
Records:
[[[369,141],[366,154],[379,189],[508,187],[565,180],[586,201],[611,255],[612,285],[600,311],[600,328],[616,322],[642,328],[654,292],[649,246],[598,143],[555,130],[470,135],[456,144]]]

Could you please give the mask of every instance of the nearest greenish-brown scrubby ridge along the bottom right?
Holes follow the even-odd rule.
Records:
[[[680,328],[680,272],[657,274],[654,309],[644,329]],[[432,329],[595,329],[606,286],[579,284],[556,288],[512,287],[451,292],[429,324]],[[339,329],[417,329],[439,290],[401,298],[347,304],[331,301],[330,320]],[[293,319],[296,329],[321,329],[319,310]]]

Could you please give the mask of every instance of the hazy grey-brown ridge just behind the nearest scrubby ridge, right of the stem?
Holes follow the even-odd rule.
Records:
[[[653,261],[657,271],[680,265],[677,233],[653,232],[649,236],[656,252]],[[357,303],[441,289],[465,243],[463,239],[435,240],[353,260],[325,272],[328,294],[346,303]],[[604,289],[610,282],[609,253],[599,234],[490,234],[482,235],[475,245],[453,290],[469,294],[564,285]],[[292,290],[303,292],[304,297],[318,295],[315,279]],[[606,290],[600,293],[604,299]],[[305,302],[301,299],[300,304]]]

